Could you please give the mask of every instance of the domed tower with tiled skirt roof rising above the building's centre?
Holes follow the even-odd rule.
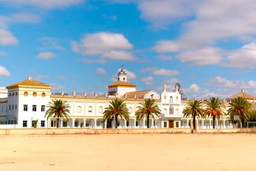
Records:
[[[117,73],[118,80],[115,83],[108,85],[108,95],[116,95],[116,97],[121,97],[127,92],[135,92],[136,85],[127,81],[127,74],[123,67],[121,71]]]

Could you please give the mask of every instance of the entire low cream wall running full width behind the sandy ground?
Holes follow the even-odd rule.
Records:
[[[5,128],[0,135],[61,135],[61,134],[133,134],[133,133],[190,133],[190,128],[148,129],[91,129],[91,128]],[[243,129],[198,129],[196,133],[256,133],[255,128]]]

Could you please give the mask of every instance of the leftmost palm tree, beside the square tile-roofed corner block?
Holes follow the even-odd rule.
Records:
[[[48,109],[45,112],[45,117],[56,118],[56,126],[59,127],[60,118],[69,118],[69,105],[67,101],[55,99],[52,102],[49,102],[47,105]]]

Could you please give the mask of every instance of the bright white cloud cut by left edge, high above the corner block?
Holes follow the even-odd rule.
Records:
[[[16,39],[11,32],[0,29],[0,45],[17,45],[18,42],[18,39]]]

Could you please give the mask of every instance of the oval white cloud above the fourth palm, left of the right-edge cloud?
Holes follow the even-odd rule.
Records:
[[[222,60],[221,51],[218,48],[206,47],[200,50],[184,51],[177,55],[181,62],[195,63],[196,65],[218,64]]]

